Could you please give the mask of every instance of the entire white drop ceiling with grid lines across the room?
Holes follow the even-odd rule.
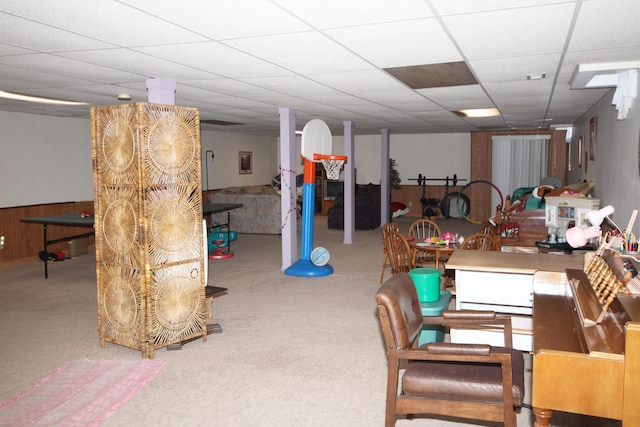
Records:
[[[256,135],[278,135],[279,107],[325,117],[334,134],[344,120],[365,133],[537,128],[611,96],[569,80],[578,64],[640,60],[637,22],[636,0],[4,0],[0,90],[110,105],[122,92],[145,101],[146,79],[170,79],[176,104],[242,123],[203,126]],[[412,89],[383,70],[457,61],[477,85]],[[546,79],[526,80],[536,73]],[[486,107],[501,116],[451,113]],[[89,107],[0,98],[0,110]]]

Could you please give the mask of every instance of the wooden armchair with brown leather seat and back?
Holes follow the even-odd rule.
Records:
[[[423,317],[413,281],[403,273],[380,287],[376,302],[388,364],[386,427],[394,426],[398,415],[416,414],[516,425],[515,408],[522,405],[525,392],[524,357],[510,348],[508,316],[445,311]],[[428,343],[418,348],[423,324],[502,328],[506,347]]]

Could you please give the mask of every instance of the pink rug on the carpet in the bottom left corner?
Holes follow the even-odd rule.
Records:
[[[0,405],[2,426],[98,426],[164,368],[155,360],[74,360]]]

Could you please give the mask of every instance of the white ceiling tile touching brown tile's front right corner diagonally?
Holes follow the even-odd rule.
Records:
[[[562,3],[442,19],[467,60],[528,56],[562,52],[574,8]]]

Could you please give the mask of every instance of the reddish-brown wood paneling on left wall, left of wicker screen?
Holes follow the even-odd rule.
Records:
[[[22,218],[79,213],[83,210],[93,211],[93,200],[0,209],[0,235],[5,236],[4,249],[0,250],[0,266],[22,260],[38,259],[38,252],[42,250],[43,245],[42,224],[20,222]],[[89,231],[90,229],[87,227],[49,226],[47,227],[47,238],[53,240]],[[92,236],[89,245],[93,244]],[[58,248],[67,250],[69,245],[66,242],[60,242],[52,244],[48,249],[51,251]]]

